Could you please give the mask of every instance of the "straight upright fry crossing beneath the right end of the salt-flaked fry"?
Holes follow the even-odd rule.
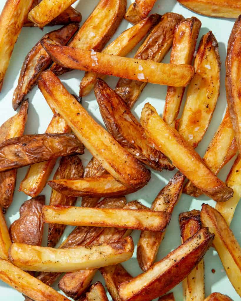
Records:
[[[171,50],[171,64],[192,64],[200,27],[201,22],[195,17],[177,24]],[[169,125],[172,125],[178,116],[184,91],[185,87],[167,87],[162,118]]]

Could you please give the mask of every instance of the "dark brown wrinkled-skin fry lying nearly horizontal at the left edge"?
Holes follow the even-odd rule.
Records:
[[[0,171],[83,153],[83,144],[71,134],[24,135],[0,144]]]

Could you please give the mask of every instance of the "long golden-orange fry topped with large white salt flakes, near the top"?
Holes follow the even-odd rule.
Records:
[[[93,50],[54,45],[50,39],[43,39],[41,44],[55,63],[70,69],[103,73],[175,87],[186,86],[194,75],[194,69],[190,65],[162,64]]]

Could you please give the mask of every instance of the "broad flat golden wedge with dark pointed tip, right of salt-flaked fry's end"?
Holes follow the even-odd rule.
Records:
[[[190,144],[196,147],[208,129],[219,96],[221,62],[218,42],[211,31],[202,36],[194,67],[196,73],[187,89],[178,131],[186,141],[188,137],[194,139],[195,145]]]

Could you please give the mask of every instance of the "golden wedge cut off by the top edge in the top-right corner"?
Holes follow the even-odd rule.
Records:
[[[241,3],[233,0],[177,0],[180,4],[210,17],[237,18],[241,11]]]

